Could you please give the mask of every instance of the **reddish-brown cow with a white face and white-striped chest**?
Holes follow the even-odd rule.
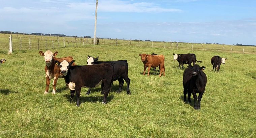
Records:
[[[73,60],[73,57],[69,56],[64,58],[55,58],[54,56],[56,56],[58,52],[56,51],[55,53],[52,53],[50,50],[47,50],[45,53],[43,53],[43,51],[39,51],[39,53],[41,56],[44,56],[45,64],[46,64],[44,67],[44,71],[46,73],[46,88],[45,88],[44,94],[48,93],[49,84],[52,78],[53,78],[53,94],[55,94],[57,80],[58,78],[63,78],[64,76],[60,72],[60,67],[55,65],[54,61],[58,60],[62,62],[63,60],[67,60],[71,62]],[[75,65],[75,63],[73,63],[73,65]]]

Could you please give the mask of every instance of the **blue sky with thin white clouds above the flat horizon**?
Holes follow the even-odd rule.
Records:
[[[93,37],[96,0],[0,3],[0,31]],[[256,1],[99,0],[96,36],[256,45]]]

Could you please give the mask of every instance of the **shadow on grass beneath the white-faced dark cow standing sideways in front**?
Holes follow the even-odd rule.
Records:
[[[68,102],[70,102],[71,100],[70,95],[65,94],[63,96],[67,98]],[[107,102],[110,102],[111,100],[113,100],[114,97],[115,97],[114,95],[108,94]],[[101,96],[81,96],[80,95],[80,103],[85,103],[85,102],[97,103],[102,101],[103,101],[103,95]],[[76,95],[74,96],[73,102],[76,102]]]

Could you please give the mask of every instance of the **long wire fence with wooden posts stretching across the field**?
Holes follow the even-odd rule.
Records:
[[[9,37],[9,38],[8,38]],[[9,39],[9,40],[8,40]],[[86,47],[93,45],[93,38],[70,37],[70,36],[40,36],[40,35],[4,35],[0,34],[0,50],[2,51],[18,51],[18,50],[39,50],[39,49],[56,49],[66,47]],[[125,40],[118,38],[97,38],[99,45],[115,45],[115,46],[138,46],[151,48],[171,48],[171,49],[190,49],[207,50],[217,52],[230,53],[247,53],[256,54],[255,46],[238,46],[225,44],[209,44],[209,43],[184,43],[172,41],[141,41],[141,40]],[[11,51],[10,51],[11,50]]]

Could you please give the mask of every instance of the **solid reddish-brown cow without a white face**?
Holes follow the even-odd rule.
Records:
[[[164,67],[164,55],[149,55],[149,54],[139,54],[141,56],[141,61],[144,64],[143,75],[145,75],[146,68],[148,67],[148,76],[150,68],[156,68],[159,66],[159,77],[161,77],[162,73],[165,76],[165,67]]]

